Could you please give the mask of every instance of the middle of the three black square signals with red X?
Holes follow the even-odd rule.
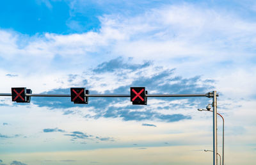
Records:
[[[74,104],[86,104],[85,88],[70,88],[70,94]]]

